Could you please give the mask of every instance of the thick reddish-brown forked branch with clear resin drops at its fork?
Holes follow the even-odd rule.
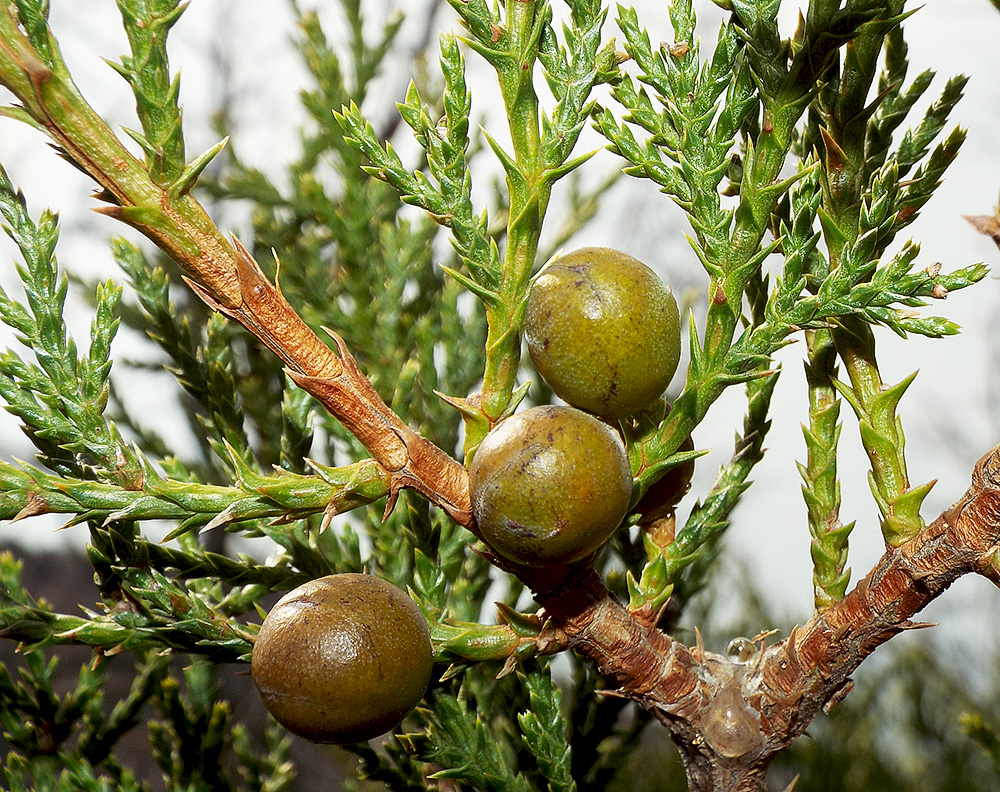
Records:
[[[891,548],[844,599],[761,645],[749,663],[688,648],[637,621],[592,568],[553,579],[522,574],[571,646],[616,695],[635,699],[670,730],[693,792],[762,790],[771,759],[820,709],[850,690],[850,675],[962,575],[997,582],[1000,446],[976,464],[972,486],[906,544]]]

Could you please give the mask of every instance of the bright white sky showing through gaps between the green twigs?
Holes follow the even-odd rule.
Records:
[[[302,5],[322,8],[328,20],[328,35],[335,35],[339,29],[337,3],[303,0]],[[391,7],[398,5],[388,0],[366,3],[373,28],[382,24]],[[427,8],[427,2],[413,0],[402,5],[412,11],[396,48],[405,53],[407,41],[419,37],[426,24],[426,14],[421,11]],[[561,5],[556,3],[557,9]],[[662,1],[637,3],[654,40],[657,37],[672,40],[665,5]],[[799,4],[785,5],[784,32],[790,34]],[[54,0],[52,6],[53,26],[84,96],[113,127],[137,126],[127,86],[101,60],[115,59],[127,51],[114,3]],[[701,14],[703,47],[710,50],[722,12],[709,0],[696,2],[696,9]],[[443,24],[451,25],[449,10],[444,10],[440,18]],[[613,19],[608,25],[613,30]],[[997,248],[988,238],[976,234],[961,215],[991,213],[1000,191],[997,150],[1000,85],[996,80],[1000,13],[988,0],[930,0],[906,23],[906,30],[911,77],[926,68],[938,72],[927,101],[936,97],[948,76],[956,73],[972,76],[966,98],[955,114],[955,121],[969,130],[966,145],[948,172],[945,184],[908,233],[922,244],[921,266],[936,261],[941,261],[946,270],[978,261],[994,265],[1000,259]],[[280,177],[283,163],[297,153],[296,130],[303,121],[297,90],[305,84],[306,76],[289,43],[293,34],[292,16],[286,3],[273,0],[191,3],[171,38],[172,65],[180,68],[183,75],[181,98],[189,157],[215,142],[207,114],[228,94],[235,122],[234,141],[241,156]],[[219,79],[220,59],[232,67],[232,85],[224,85]],[[492,93],[495,85],[482,83],[490,75],[475,56],[470,55],[469,62],[475,111],[483,113],[485,123],[490,125],[497,107]],[[381,80],[381,86],[391,98],[402,99],[407,79],[404,59]],[[384,100],[379,104],[387,105]],[[491,131],[502,139],[502,129],[496,124],[491,125]],[[588,140],[592,147],[600,145],[596,137]],[[45,207],[61,214],[59,257],[64,268],[92,277],[123,280],[110,258],[107,240],[111,235],[130,232],[89,211],[94,203],[88,197],[92,184],[86,177],[57,158],[40,135],[8,120],[0,120],[0,162],[24,189],[34,214]],[[478,164],[484,164],[484,159]],[[617,166],[612,155],[602,152],[590,167],[596,174],[603,174]],[[480,176],[478,184],[485,189],[489,180]],[[226,210],[216,219],[224,230],[246,233],[238,211]],[[659,270],[670,283],[697,284],[700,276],[692,280],[690,273],[700,269],[684,239],[686,233],[688,229],[681,214],[669,199],[648,183],[625,180],[609,196],[599,222],[581,233],[573,245],[619,247]],[[9,264],[14,256],[13,246],[4,237],[0,240],[0,260],[6,263],[0,266],[0,284],[16,294],[19,287]],[[994,370],[1000,360],[1000,344],[995,340],[994,329],[1000,308],[1000,281],[991,277],[976,288],[951,296],[943,304],[931,306],[934,308],[962,325],[964,334],[940,341],[915,339],[902,343],[888,331],[878,333],[882,373],[887,382],[897,382],[914,369],[920,369],[901,410],[912,482],[940,480],[925,502],[928,519],[933,519],[962,494],[975,460],[1000,442],[1000,404],[996,403],[1000,377]],[[85,346],[89,334],[86,309],[74,310],[70,321],[72,332]],[[9,333],[0,328],[0,344],[8,343]],[[116,359],[150,357],[148,347],[124,332],[119,335],[113,353]],[[808,616],[812,596],[805,508],[795,468],[795,461],[804,456],[799,430],[799,423],[806,417],[802,356],[801,344],[789,347],[781,355],[785,373],[773,408],[774,422],[767,444],[771,452],[755,472],[757,486],[734,515],[734,526],[727,540],[729,555],[724,562],[736,565],[745,561],[763,586],[768,602],[778,613],[795,619]],[[157,380],[156,387],[150,387],[122,366],[116,367],[115,377],[118,392],[126,403],[147,406],[158,426],[169,427],[171,420],[179,420],[180,413],[170,398],[163,398],[170,395],[165,378]],[[160,383],[164,387],[159,387]],[[733,433],[742,420],[741,396],[738,389],[733,389],[695,433],[698,447],[714,449],[699,464],[696,493],[710,486],[718,465],[731,453]],[[845,451],[841,468],[842,517],[845,522],[858,520],[850,559],[857,578],[874,563],[882,546],[877,512],[866,481],[867,460],[860,450],[856,421],[847,405],[842,408],[842,418]],[[187,429],[182,427],[177,431],[184,433]],[[6,415],[0,416],[0,454],[26,459],[32,455],[30,446]],[[65,541],[79,546],[86,541],[85,531],[54,534],[53,525],[58,522],[36,519],[0,526],[0,541],[46,545]],[[975,655],[984,648],[983,641],[996,640],[992,615],[998,608],[1000,592],[984,581],[968,580],[960,582],[955,591],[949,592],[925,615],[950,625],[939,631],[939,635],[949,640],[964,636],[958,644],[959,653]]]

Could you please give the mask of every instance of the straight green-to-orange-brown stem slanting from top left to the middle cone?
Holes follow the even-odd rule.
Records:
[[[415,487],[468,524],[464,469],[392,413],[344,344],[338,341],[337,352],[324,344],[246,249],[225,239],[191,195],[207,160],[191,163],[161,188],[80,96],[48,31],[45,40],[48,63],[22,32],[16,11],[5,7],[0,12],[0,84],[23,105],[15,115],[43,129],[107,191],[113,205],[105,214],[146,234],[185,269],[190,285],[211,308],[243,324],[275,352],[294,381],[390,472],[394,492]]]

